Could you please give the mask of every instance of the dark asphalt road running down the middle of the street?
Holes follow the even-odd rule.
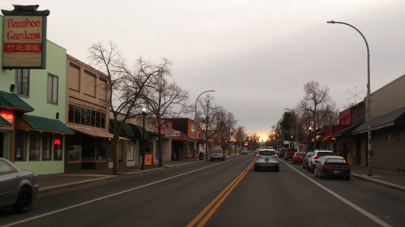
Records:
[[[291,161],[254,172],[254,157],[198,162],[40,195],[0,210],[6,226],[404,226],[405,194],[352,178],[320,180]]]

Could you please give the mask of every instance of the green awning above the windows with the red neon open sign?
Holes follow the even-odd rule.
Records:
[[[61,134],[75,134],[69,127],[58,119],[38,117],[33,115],[23,115],[19,117],[21,121],[16,121],[17,130],[33,130],[36,132],[51,132]]]

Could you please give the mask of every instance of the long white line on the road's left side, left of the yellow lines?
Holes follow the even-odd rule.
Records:
[[[241,157],[242,157],[242,156],[241,156]],[[235,159],[238,159],[238,158],[241,158],[241,157],[233,158],[233,159],[230,159],[230,160],[228,160],[228,161],[235,160]],[[214,165],[220,165],[220,164],[222,164],[222,163],[224,163],[224,162],[227,162],[227,161],[222,161],[222,162],[220,162],[220,163],[212,164],[212,165],[210,165],[210,166],[207,166],[207,167],[204,167],[204,168],[200,168],[200,169],[198,169],[198,170],[193,170],[193,171],[190,171],[190,172],[187,172],[187,173],[179,174],[179,175],[177,175],[177,176],[172,176],[172,177],[169,177],[169,178],[166,178],[166,179],[163,179],[163,180],[158,180],[158,181],[156,181],[156,182],[152,182],[152,183],[149,183],[149,184],[146,184],[146,185],[142,185],[142,186],[135,187],[135,188],[132,188],[132,189],[128,189],[128,190],[125,190],[125,191],[120,191],[120,192],[117,192],[117,193],[114,193],[114,194],[111,194],[111,195],[107,195],[107,196],[104,196],[104,197],[100,197],[100,198],[97,198],[97,199],[92,199],[92,200],[87,201],[87,202],[83,202],[83,203],[80,203],[80,204],[68,206],[68,207],[65,207],[65,208],[62,208],[62,209],[59,209],[59,210],[54,210],[54,211],[51,211],[51,212],[47,212],[47,213],[45,213],[45,214],[40,214],[40,215],[37,215],[37,216],[33,216],[33,217],[28,218],[28,219],[23,219],[23,220],[16,221],[16,222],[13,222],[13,223],[9,223],[9,224],[6,224],[6,225],[1,225],[0,227],[9,227],[9,226],[21,224],[21,223],[24,223],[24,222],[27,222],[27,221],[31,221],[31,220],[34,220],[34,219],[42,218],[42,217],[45,217],[45,216],[48,216],[48,215],[51,215],[51,214],[55,214],[55,213],[58,213],[58,212],[62,212],[62,211],[64,211],[64,210],[69,210],[69,209],[72,209],[72,208],[75,208],[75,207],[78,207],[78,206],[83,206],[83,205],[85,205],[85,204],[90,204],[90,203],[92,203],[92,202],[96,202],[96,201],[101,200],[101,199],[107,199],[107,198],[113,197],[113,196],[115,196],[115,195],[120,195],[120,194],[122,194],[122,193],[126,193],[126,192],[129,192],[129,191],[133,191],[133,190],[136,190],[136,189],[140,189],[140,188],[143,188],[143,187],[146,187],[146,186],[149,186],[149,185],[153,185],[153,184],[156,184],[156,183],[159,183],[159,182],[163,182],[163,181],[165,181],[165,180],[170,180],[170,179],[173,179],[173,178],[176,178],[176,177],[179,177],[179,176],[183,176],[183,175],[185,175],[185,174],[190,174],[190,173],[192,173],[192,172],[196,172],[196,171],[199,171],[199,170],[203,170],[203,169],[206,169],[206,168],[210,168],[210,167],[213,167]]]

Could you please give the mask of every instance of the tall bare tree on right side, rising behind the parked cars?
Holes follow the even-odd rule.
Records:
[[[329,90],[328,85],[322,87],[318,81],[309,81],[304,84],[304,97],[297,104],[300,110],[308,111],[309,117],[312,119],[314,149],[316,149],[316,130],[320,126],[320,117],[322,117],[319,110],[327,111],[336,107],[335,102],[329,95]]]

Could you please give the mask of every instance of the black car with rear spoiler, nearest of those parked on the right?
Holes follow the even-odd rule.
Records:
[[[350,165],[346,159],[340,156],[324,156],[315,160],[317,165],[314,168],[313,174],[323,179],[325,176],[343,176],[346,180],[350,180],[352,176]]]

